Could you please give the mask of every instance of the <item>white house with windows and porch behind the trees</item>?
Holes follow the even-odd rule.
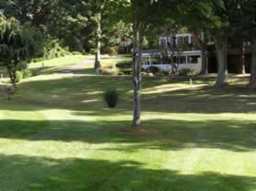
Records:
[[[173,37],[159,37],[159,49],[148,49],[142,51],[142,69],[150,66],[164,71],[172,71],[173,65],[176,69],[194,69],[200,72],[202,69],[201,51],[196,39],[190,33],[176,34]],[[171,57],[173,56],[173,65]]]

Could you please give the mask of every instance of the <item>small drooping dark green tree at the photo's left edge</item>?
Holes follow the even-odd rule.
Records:
[[[32,58],[35,54],[35,42],[28,36],[28,26],[21,26],[16,18],[0,16],[0,60],[6,65],[12,83],[16,82],[17,65]]]

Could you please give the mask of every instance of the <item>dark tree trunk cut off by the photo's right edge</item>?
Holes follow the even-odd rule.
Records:
[[[250,90],[256,90],[256,38],[251,44]]]

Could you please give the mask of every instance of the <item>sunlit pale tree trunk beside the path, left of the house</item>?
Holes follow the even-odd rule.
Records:
[[[96,71],[101,68],[101,13],[96,15],[96,53],[95,53],[95,69]]]

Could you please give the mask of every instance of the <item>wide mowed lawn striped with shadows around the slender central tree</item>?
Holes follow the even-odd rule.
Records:
[[[24,80],[0,98],[0,190],[255,191],[256,93],[231,81],[143,79],[136,130],[129,77]]]

